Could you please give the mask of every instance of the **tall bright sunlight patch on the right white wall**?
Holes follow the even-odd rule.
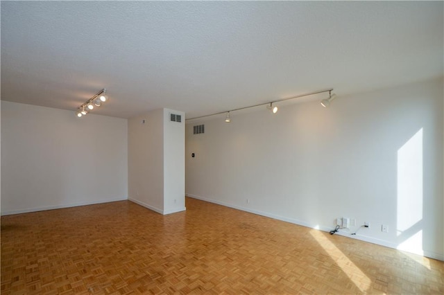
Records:
[[[422,254],[422,128],[398,150],[398,249]]]

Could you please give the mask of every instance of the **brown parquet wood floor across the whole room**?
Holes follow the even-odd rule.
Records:
[[[444,294],[444,262],[186,199],[1,217],[1,294]]]

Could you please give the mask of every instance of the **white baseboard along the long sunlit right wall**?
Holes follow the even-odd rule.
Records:
[[[200,199],[201,201],[210,202],[210,203],[213,203],[213,204],[218,204],[218,205],[221,205],[221,206],[237,209],[237,210],[240,210],[240,211],[246,211],[248,213],[253,213],[253,214],[256,214],[256,215],[261,215],[261,216],[264,216],[264,217],[273,218],[275,220],[281,220],[281,221],[284,221],[284,222],[289,222],[289,223],[292,223],[292,224],[297,224],[297,225],[300,225],[300,226],[305,226],[305,227],[308,227],[310,229],[318,229],[319,231],[326,231],[326,232],[330,232],[332,230],[330,227],[327,227],[327,226],[318,226],[318,225],[315,225],[315,224],[309,224],[308,222],[303,222],[302,220],[296,220],[296,219],[289,218],[289,217],[284,217],[284,216],[280,216],[280,215],[266,213],[266,212],[263,212],[263,211],[257,211],[257,210],[253,210],[253,209],[250,209],[250,208],[245,208],[245,207],[242,207],[242,206],[237,206],[237,205],[233,205],[233,204],[229,204],[229,203],[225,203],[225,202],[220,202],[220,201],[217,201],[217,200],[214,200],[214,199],[208,199],[208,198],[205,198],[205,197],[200,197],[198,195],[192,195],[192,194],[185,194],[185,195],[187,197],[191,197],[193,199]],[[441,253],[435,253],[435,252],[432,252],[432,251],[422,251],[422,253],[414,253],[414,252],[404,251],[404,250],[398,249],[398,247],[399,247],[398,244],[395,244],[393,242],[388,242],[386,240],[379,240],[379,239],[372,238],[372,237],[369,237],[369,236],[366,236],[366,235],[350,235],[350,233],[346,233],[346,232],[343,232],[341,230],[338,233],[336,233],[336,235],[341,235],[341,236],[343,236],[345,238],[361,240],[361,241],[364,241],[364,242],[369,242],[369,243],[372,243],[372,244],[377,244],[379,246],[384,246],[384,247],[388,247],[388,248],[392,248],[392,249],[397,249],[398,251],[407,252],[407,253],[413,253],[413,254],[425,256],[425,257],[428,257],[428,258],[433,258],[433,259],[436,259],[436,260],[444,261],[444,254],[441,254]]]

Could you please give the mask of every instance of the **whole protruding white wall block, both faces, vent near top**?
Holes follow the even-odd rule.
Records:
[[[128,199],[157,213],[185,210],[184,118],[156,109],[128,120]]]

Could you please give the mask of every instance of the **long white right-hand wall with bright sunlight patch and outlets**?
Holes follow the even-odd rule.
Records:
[[[337,94],[187,124],[187,195],[443,260],[442,78]]]

